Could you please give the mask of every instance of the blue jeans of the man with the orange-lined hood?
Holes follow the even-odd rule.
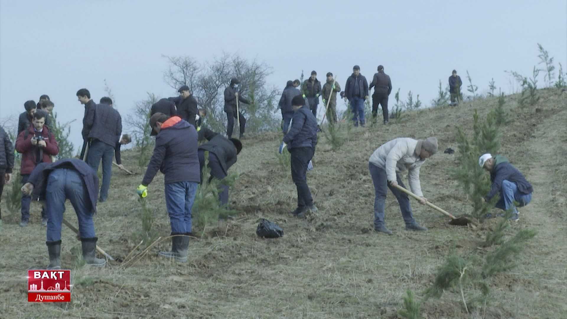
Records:
[[[170,216],[172,233],[191,233],[191,209],[197,186],[196,182],[177,182],[165,185],[166,207]]]

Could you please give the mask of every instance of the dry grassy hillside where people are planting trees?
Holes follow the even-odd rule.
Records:
[[[497,275],[486,308],[464,312],[457,291],[422,304],[425,318],[564,318],[567,313],[567,94],[555,89],[539,91],[534,107],[517,108],[518,96],[507,96],[510,123],[501,127],[501,154],[526,175],[534,186],[534,199],[521,209],[521,221],[507,234],[531,228],[538,233],[528,241],[518,267]],[[399,206],[389,192],[386,222],[394,234],[371,231],[374,188],[368,158],[383,142],[395,137],[436,136],[438,154],[421,169],[425,196],[454,215],[470,213],[460,185],[451,179],[458,163],[456,128],[472,130],[475,109],[481,117],[496,106],[489,98],[408,114],[401,123],[384,127],[343,127],[346,143],[337,152],[321,136],[308,184],[319,212],[306,220],[287,212],[296,204],[290,173],[277,158],[281,134],[249,137],[238,162],[239,173],[230,193],[239,215],[206,229],[189,246],[189,262],[179,264],[156,257],[169,241],[151,247],[149,254],[124,267],[110,262],[103,269],[77,263],[80,244],[64,227],[62,263],[73,269],[70,304],[33,304],[26,299],[26,270],[48,264],[45,228],[39,207],[32,208],[31,223],[19,228],[19,215],[3,209],[0,236],[0,317],[187,317],[187,318],[396,318],[406,289],[418,299],[429,287],[435,269],[448,254],[477,255],[487,232],[498,220],[476,230],[447,224],[438,212],[412,201],[414,216],[428,232],[404,230]],[[136,153],[124,152],[124,164],[137,175],[113,171],[109,200],[99,205],[95,228],[99,246],[115,258],[125,259],[141,238],[140,204],[135,188],[141,181]],[[116,168],[116,167],[113,167]],[[3,203],[5,205],[5,203]],[[163,175],[149,187],[153,230],[170,233],[163,196]],[[65,214],[77,223],[69,206]],[[260,217],[282,226],[285,236],[263,240],[255,234]],[[23,230],[23,231],[22,231]],[[145,248],[142,244],[137,251]],[[467,295],[467,299],[475,297]]]

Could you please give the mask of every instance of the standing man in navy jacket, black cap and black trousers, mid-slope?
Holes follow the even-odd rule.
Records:
[[[291,179],[297,187],[297,208],[292,212],[294,216],[303,218],[306,212],[316,212],[311,191],[307,186],[307,166],[315,154],[317,145],[317,119],[305,106],[305,99],[298,95],[291,101],[293,122],[289,132],[284,136],[279,152],[287,150],[291,154]]]

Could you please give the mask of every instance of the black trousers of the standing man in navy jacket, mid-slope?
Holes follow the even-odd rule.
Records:
[[[307,186],[307,165],[313,158],[312,148],[293,148],[291,154],[291,179],[297,187],[297,207],[303,209],[313,205],[311,191]]]

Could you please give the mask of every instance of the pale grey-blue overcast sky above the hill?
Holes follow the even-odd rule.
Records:
[[[272,66],[269,80],[281,89],[301,70],[306,77],[316,70],[322,81],[333,72],[344,86],[355,64],[370,82],[382,64],[394,91],[405,98],[412,90],[426,106],[452,69],[463,82],[469,70],[481,93],[491,78],[509,92],[504,70],[531,74],[537,43],[567,69],[565,0],[346,3],[0,0],[0,118],[48,94],[60,121],[77,119],[78,148],[77,90],[86,87],[99,102],[106,79],[124,118],[146,92],[177,95],[163,82],[162,54],[257,58]]]

